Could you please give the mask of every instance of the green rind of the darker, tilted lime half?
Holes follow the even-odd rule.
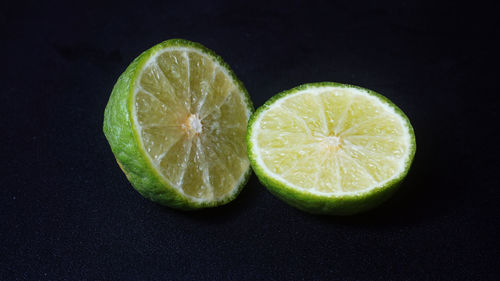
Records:
[[[133,106],[133,91],[141,70],[152,56],[164,51],[166,48],[174,47],[195,49],[215,60],[229,74],[240,92],[243,93],[249,113],[251,114],[254,111],[253,104],[243,83],[220,56],[199,43],[184,39],[170,39],[144,51],[118,78],[105,109],[103,131],[117,162],[128,180],[145,198],[182,210],[224,205],[234,200],[241,192],[250,177],[250,166],[241,176],[232,193],[212,201],[196,200],[181,193],[177,188],[167,183],[163,179],[163,176],[153,167],[136,130],[134,118],[130,114]],[[128,126],[124,126],[123,124],[127,124]]]

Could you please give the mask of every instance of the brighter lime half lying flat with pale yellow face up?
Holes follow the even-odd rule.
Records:
[[[312,213],[353,214],[378,205],[415,153],[408,118],[356,86],[306,84],[278,94],[252,116],[252,167],[285,202]]]

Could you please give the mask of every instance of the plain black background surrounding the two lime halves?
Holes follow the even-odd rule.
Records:
[[[0,4],[0,280],[500,278],[498,4],[41,2]],[[351,217],[298,211],[255,176],[216,209],[142,198],[103,112],[170,38],[222,56],[256,107],[306,82],[384,94],[417,137],[401,190]]]

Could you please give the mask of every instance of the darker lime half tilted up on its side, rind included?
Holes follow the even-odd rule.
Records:
[[[172,39],[120,76],[104,133],[144,197],[178,209],[213,207],[234,199],[248,179],[252,111],[243,84],[219,56]]]

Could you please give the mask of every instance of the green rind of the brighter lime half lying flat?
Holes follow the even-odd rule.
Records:
[[[259,118],[259,115],[269,109],[275,102],[282,99],[283,97],[294,94],[300,91],[304,91],[311,88],[321,88],[321,87],[340,87],[340,88],[355,88],[362,90],[369,95],[375,96],[386,105],[394,109],[396,114],[403,118],[405,121],[405,127],[408,129],[408,134],[410,136],[410,147],[408,152],[408,157],[404,163],[403,171],[395,178],[384,182],[382,185],[375,186],[371,189],[356,192],[342,194],[341,196],[331,194],[331,195],[319,195],[312,193],[304,189],[297,189],[290,187],[283,183],[282,181],[276,179],[275,177],[269,175],[269,173],[260,164],[257,163],[258,156],[255,153],[253,141],[251,141],[253,134],[253,125],[255,121]],[[369,89],[365,89],[359,86],[341,84],[336,82],[318,82],[309,83],[297,86],[290,90],[280,92],[265,102],[261,107],[259,107],[255,113],[250,117],[248,122],[247,131],[247,150],[250,159],[250,164],[253,171],[257,175],[259,181],[276,197],[285,201],[291,206],[294,206],[300,210],[314,213],[314,214],[332,214],[332,215],[351,215],[359,212],[369,210],[385,200],[387,200],[399,187],[403,179],[406,177],[413,158],[416,152],[416,141],[415,133],[408,117],[404,112],[392,103],[389,99],[383,95],[374,92]]]

